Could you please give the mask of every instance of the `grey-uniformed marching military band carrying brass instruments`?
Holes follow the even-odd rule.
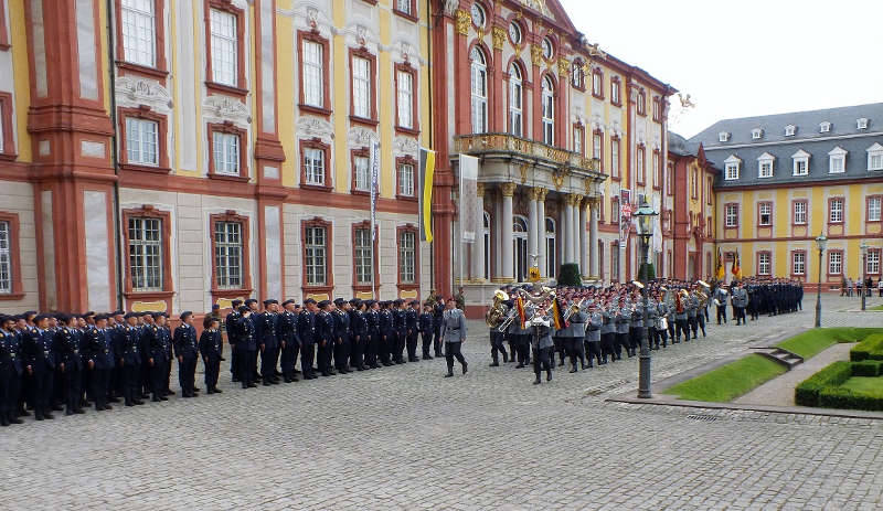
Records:
[[[643,286],[639,283],[606,288],[515,286],[500,289],[486,316],[490,327],[490,365],[499,366],[500,355],[503,363],[517,361],[515,369],[528,366],[533,359],[534,383],[539,383],[546,365],[546,377],[551,380],[555,354],[558,366],[570,359],[572,373],[621,360],[623,353],[635,356],[645,326],[652,350],[668,348],[669,339],[671,343],[680,343],[696,339],[699,332],[706,336],[709,287],[704,283],[651,283],[646,288],[646,322],[641,289]],[[536,321],[532,321],[534,319]],[[544,337],[550,339],[549,347],[540,345]],[[542,350],[546,348],[549,353],[544,354]]]

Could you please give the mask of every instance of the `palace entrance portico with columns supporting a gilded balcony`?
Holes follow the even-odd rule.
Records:
[[[474,243],[455,244],[464,275],[455,276],[469,305],[486,304],[501,285],[524,283],[540,267],[554,281],[562,264],[575,263],[584,281],[598,278],[598,212],[607,179],[597,162],[566,150],[503,134],[462,136],[459,153],[479,157]],[[451,158],[455,173],[458,156]],[[594,243],[593,243],[594,241]],[[455,269],[456,272],[456,269]]]

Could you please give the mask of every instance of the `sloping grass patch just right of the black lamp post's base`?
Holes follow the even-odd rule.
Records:
[[[785,366],[753,353],[666,391],[681,400],[730,402],[783,374]]]

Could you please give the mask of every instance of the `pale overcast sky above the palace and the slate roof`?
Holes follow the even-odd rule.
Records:
[[[643,68],[692,137],[733,117],[883,102],[883,0],[561,0],[591,43]]]

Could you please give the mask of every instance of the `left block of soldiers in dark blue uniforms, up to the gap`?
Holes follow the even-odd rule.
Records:
[[[172,360],[179,362],[183,397],[193,384],[196,359],[220,364],[223,343],[216,324],[206,321],[201,339],[193,313],[183,312],[174,332],[162,312],[86,312],[0,316],[0,425],[20,424],[33,409],[36,420],[52,412],[83,414],[111,409],[110,403],[167,401]],[[215,329],[212,329],[212,327]],[[209,393],[220,392],[213,386]]]

